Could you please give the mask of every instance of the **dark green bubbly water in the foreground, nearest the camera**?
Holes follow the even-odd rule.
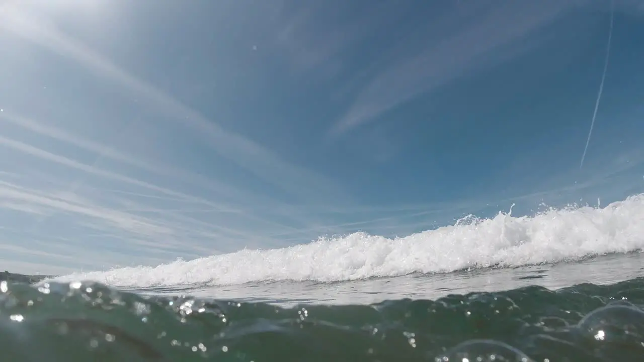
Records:
[[[289,308],[94,283],[0,289],[2,361],[644,360],[644,278]]]

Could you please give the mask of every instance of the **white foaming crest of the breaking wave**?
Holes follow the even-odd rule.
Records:
[[[455,225],[404,238],[354,233],[283,249],[243,250],[156,267],[71,274],[56,280],[93,280],[117,287],[343,281],[558,262],[641,249],[644,194],[603,208],[567,207],[523,217],[511,213],[488,219],[471,216]]]

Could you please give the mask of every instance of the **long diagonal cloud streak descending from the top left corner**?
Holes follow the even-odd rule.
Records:
[[[0,19],[1,28],[72,59],[107,81],[114,82],[124,90],[133,93],[142,102],[147,102],[156,111],[164,113],[166,117],[171,116],[171,119],[180,122],[181,126],[194,129],[199,135],[206,137],[209,146],[219,155],[236,162],[238,166],[266,182],[305,200],[311,200],[311,198],[320,200],[342,195],[338,194],[341,190],[334,186],[332,181],[285,162],[270,149],[238,133],[223,129],[215,120],[206,119],[198,111],[129,74],[105,57],[75,41],[47,19],[27,14],[19,8],[5,9],[5,12],[0,14]],[[284,180],[289,180],[288,185]]]

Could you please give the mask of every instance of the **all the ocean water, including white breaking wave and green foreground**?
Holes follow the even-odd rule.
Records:
[[[0,281],[3,361],[644,361],[644,194]]]

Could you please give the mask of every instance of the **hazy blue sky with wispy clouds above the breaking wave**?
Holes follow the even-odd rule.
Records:
[[[0,262],[64,273],[644,190],[644,6],[9,0]]]

